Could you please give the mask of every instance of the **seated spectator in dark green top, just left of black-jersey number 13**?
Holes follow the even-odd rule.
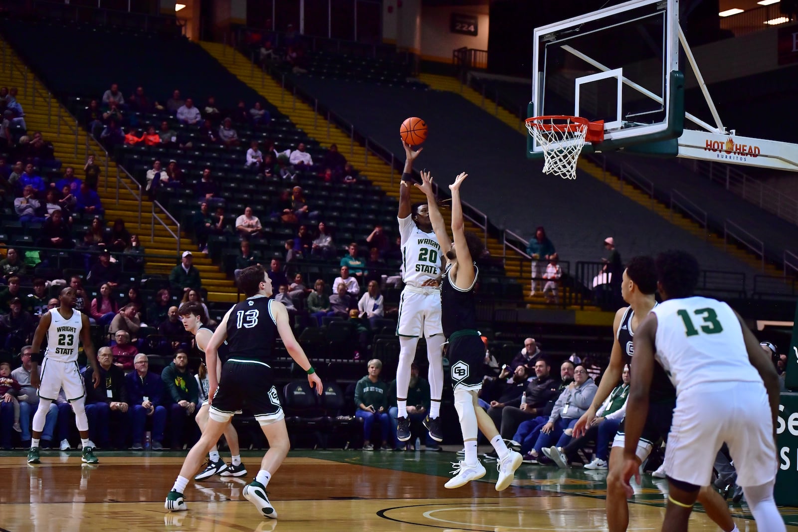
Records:
[[[172,364],[164,368],[160,378],[164,381],[169,405],[170,425],[172,432],[172,448],[183,448],[183,432],[186,420],[191,420],[196,414],[199,387],[188,371],[188,355],[179,349],[175,353]]]

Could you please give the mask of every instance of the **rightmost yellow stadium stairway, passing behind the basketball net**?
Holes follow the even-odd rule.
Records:
[[[496,103],[493,100],[490,100],[488,97],[483,99],[482,95],[477,93],[476,90],[471,89],[467,85],[460,84],[460,81],[457,80],[456,77],[421,73],[418,78],[425,84],[429,85],[432,89],[445,90],[451,93],[460,94],[460,96],[472,102],[472,104],[475,104],[477,107],[497,116],[505,124],[508,124],[508,126],[515,129],[522,135],[526,136],[528,134],[526,126],[521,125],[518,116],[512,114],[501,106],[499,106],[499,113],[496,115]],[[698,223],[694,222],[693,219],[689,219],[681,214],[672,213],[669,205],[658,201],[657,199],[652,201],[649,195],[646,195],[637,187],[630,186],[629,183],[624,183],[622,179],[620,179],[617,175],[612,174],[610,171],[604,171],[597,164],[594,164],[585,158],[581,158],[579,160],[577,167],[579,170],[584,171],[595,179],[599,179],[599,181],[605,183],[614,191],[625,195],[627,198],[632,199],[634,202],[642,205],[642,207],[646,207],[646,209],[649,211],[661,216],[663,219],[673,223],[675,226],[696,235],[698,238],[705,237],[704,228],[698,225]],[[713,234],[710,231],[707,235],[707,241],[718,249],[724,250],[726,253],[733,255],[733,257],[745,262],[755,270],[759,270],[761,268],[760,258],[757,258],[756,255],[749,252],[747,248],[742,246],[726,246],[722,234]],[[782,271],[777,269],[772,264],[766,262],[764,271],[762,273],[766,275],[778,276],[782,274]]]

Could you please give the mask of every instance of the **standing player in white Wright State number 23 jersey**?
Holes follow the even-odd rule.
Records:
[[[50,404],[57,398],[62,387],[75,412],[77,430],[81,433],[82,461],[97,463],[94,450],[89,445],[89,419],[86,417],[83,377],[77,368],[77,348],[80,341],[83,341],[86,359],[94,370],[92,375],[94,388],[100,385],[100,370],[97,368],[97,355],[92,345],[89,317],[75,310],[76,299],[77,293],[71,286],[61,290],[61,295],[58,297],[61,305],[41,317],[34,333],[33,353],[30,356],[33,366],[30,369],[30,384],[38,388],[39,406],[34,414],[28,463],[39,463],[39,439],[45,428],[45,418]],[[39,349],[45,334],[47,351],[44,357],[41,357]],[[41,380],[39,362],[42,363]]]

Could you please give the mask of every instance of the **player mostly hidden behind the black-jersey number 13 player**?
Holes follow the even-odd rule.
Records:
[[[180,319],[183,320],[183,326],[185,329],[194,335],[194,342],[197,346],[197,350],[199,350],[199,353],[202,353],[202,363],[203,365],[206,365],[207,371],[207,364],[204,360],[205,348],[207,347],[208,342],[211,341],[213,331],[203,325],[204,323],[207,323],[205,309],[203,309],[203,306],[198,302],[189,301],[188,303],[180,305],[180,310],[178,313],[180,314]],[[227,358],[229,358],[227,342],[219,346],[218,357],[219,363],[216,365],[216,377],[220,378],[222,366],[227,361]],[[204,388],[203,380],[199,381],[199,387]],[[207,396],[207,392],[209,390],[203,389],[202,391],[203,394]],[[202,406],[200,406],[195,417],[197,425],[199,425],[200,432],[205,432],[208,412],[210,409],[210,402],[207,399],[203,400]],[[236,413],[240,414],[241,411],[239,410]],[[241,463],[241,455],[239,451],[239,433],[235,431],[233,424],[228,424],[227,428],[224,429],[224,438],[227,440],[227,446],[230,447],[231,463],[229,465],[224,463],[224,461],[219,457],[219,449],[214,443],[213,447],[211,447],[210,453],[208,454],[206,466],[202,471],[199,471],[199,473],[194,476],[195,480],[207,479],[213,475],[234,477],[242,477],[247,475],[247,468],[243,466],[243,463]]]

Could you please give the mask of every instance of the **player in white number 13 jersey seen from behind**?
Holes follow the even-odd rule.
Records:
[[[709,485],[717,451],[726,443],[757,530],[786,530],[773,500],[778,468],[776,368],[729,305],[693,296],[700,270],[684,251],[655,261],[662,304],[634,335],[632,384],[626,406],[623,479],[639,482],[635,451],[649,408],[655,361],[676,387],[665,469],[668,508],[662,530],[687,530],[698,491]]]

